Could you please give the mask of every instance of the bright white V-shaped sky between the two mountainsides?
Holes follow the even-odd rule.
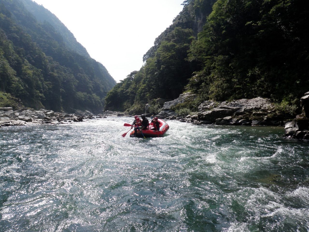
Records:
[[[61,20],[119,82],[143,65],[184,0],[33,0]]]

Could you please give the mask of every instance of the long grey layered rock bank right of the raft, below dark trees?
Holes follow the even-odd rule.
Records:
[[[186,98],[184,98],[186,96]],[[165,102],[163,111],[157,117],[163,119],[177,119],[191,122],[196,125],[267,125],[283,126],[283,116],[276,113],[274,104],[268,98],[256,97],[253,99],[240,99],[236,101],[204,101],[194,115],[177,115],[172,107],[191,101],[193,95],[188,93],[180,95],[174,101]]]

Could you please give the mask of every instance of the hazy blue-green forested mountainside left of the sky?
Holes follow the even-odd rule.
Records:
[[[68,30],[56,31],[49,17],[38,22],[23,2],[0,0],[0,105],[9,106],[16,97],[36,109],[102,110],[115,80],[86,49],[72,47],[78,45],[74,36],[75,41],[67,42]],[[42,7],[28,3],[33,12]],[[42,8],[39,14],[44,15]],[[53,22],[61,25],[55,18]]]

